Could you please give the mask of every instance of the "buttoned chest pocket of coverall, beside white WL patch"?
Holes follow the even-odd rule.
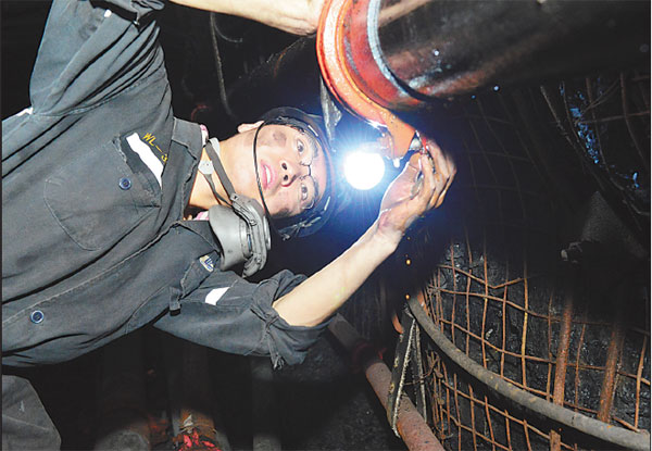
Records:
[[[83,249],[116,243],[161,204],[158,186],[126,163],[116,142],[74,159],[46,180],[45,201],[65,233]]]

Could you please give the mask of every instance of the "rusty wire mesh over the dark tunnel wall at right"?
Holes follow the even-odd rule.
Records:
[[[485,368],[551,403],[638,431],[650,430],[649,258],[610,243],[579,264],[560,258],[597,188],[625,204],[616,210],[632,234],[649,228],[649,154],[639,150],[650,147],[650,109],[638,87],[649,88],[649,77],[615,80],[600,96],[587,93],[570,123],[560,120],[563,107],[555,110],[570,82],[554,100],[550,90],[519,89],[461,107],[451,125],[461,142],[459,173],[446,214],[411,233],[397,261],[403,267],[392,271],[403,273],[406,292],[422,287],[440,330]],[[595,82],[584,84],[594,89]],[[636,108],[624,111],[617,95],[632,89]],[[627,125],[632,117],[636,127]],[[591,124],[602,126],[593,135],[599,163],[587,146]],[[518,408],[426,349],[429,421],[448,449],[617,448]]]

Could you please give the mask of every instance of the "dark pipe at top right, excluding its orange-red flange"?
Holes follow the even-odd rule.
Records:
[[[371,1],[367,17],[412,3]],[[412,96],[448,98],[649,61],[649,21],[641,1],[438,0],[372,25],[369,37]]]

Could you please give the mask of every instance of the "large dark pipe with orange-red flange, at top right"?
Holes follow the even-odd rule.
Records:
[[[394,112],[482,88],[648,64],[650,2],[638,0],[327,0],[317,29],[324,82],[405,154]]]

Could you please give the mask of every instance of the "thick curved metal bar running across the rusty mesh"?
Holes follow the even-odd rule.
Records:
[[[415,298],[410,298],[408,304],[422,329],[428,334],[439,350],[475,377],[479,383],[490,387],[492,391],[509,398],[532,412],[537,412],[565,426],[610,443],[640,451],[648,451],[650,449],[650,435],[647,433],[635,433],[624,428],[613,427],[599,419],[590,418],[563,406],[555,405],[507,383],[500,376],[484,368],[460,351],[460,349],[457,349],[457,347],[437,328],[432,323],[432,320],[424,312]]]

